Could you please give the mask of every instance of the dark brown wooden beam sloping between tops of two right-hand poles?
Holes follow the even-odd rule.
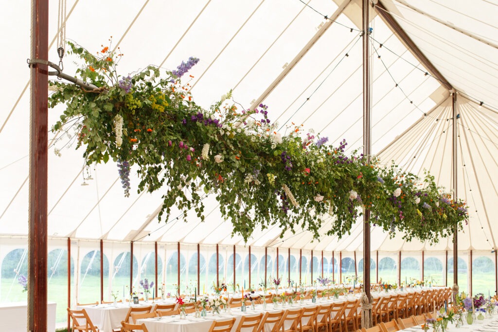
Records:
[[[377,9],[378,7],[378,9]],[[439,70],[427,59],[418,46],[408,36],[405,30],[399,25],[396,19],[389,13],[381,1],[375,4],[377,13],[382,17],[382,20],[391,28],[398,39],[410,50],[415,58],[427,69],[427,71],[434,76],[447,90],[453,90],[453,86],[446,80],[446,78],[439,72]],[[380,9],[380,10],[379,10]]]

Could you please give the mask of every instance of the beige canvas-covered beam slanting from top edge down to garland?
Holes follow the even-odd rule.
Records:
[[[275,80],[270,84],[270,86],[259,96],[254,103],[250,106],[250,109],[255,109],[262,101],[268,97],[268,95],[280,84],[280,82],[287,76],[288,73],[297,65],[297,63],[308,53],[308,51],[313,47],[313,45],[322,37],[328,28],[334,23],[334,21],[339,17],[339,15],[344,11],[344,9],[350,4],[351,0],[344,0],[341,5],[336,9],[336,11],[329,17],[325,24],[315,33],[313,38],[303,47],[303,49],[292,59],[292,61],[284,68],[280,75],[275,78]]]

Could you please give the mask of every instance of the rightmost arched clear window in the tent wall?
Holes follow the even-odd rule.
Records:
[[[495,290],[495,253],[472,251],[472,294],[483,293],[485,297],[494,296]]]

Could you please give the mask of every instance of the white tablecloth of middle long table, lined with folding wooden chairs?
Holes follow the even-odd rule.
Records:
[[[391,296],[393,294],[408,294],[409,292],[420,292],[423,290],[427,290],[429,288],[423,289],[412,289],[407,292],[374,292],[373,297],[382,297],[382,296]],[[434,287],[433,289],[439,289]],[[349,295],[349,296],[340,296],[339,299],[327,299],[327,298],[318,298],[316,303],[313,303],[311,300],[305,300],[303,304],[299,302],[294,303],[292,307],[288,305],[282,308],[281,304],[278,305],[276,309],[273,308],[272,304],[266,305],[266,310],[263,308],[261,304],[255,305],[255,310],[251,310],[249,307],[246,312],[242,312],[241,308],[233,308],[231,309],[232,315],[228,312],[221,313],[221,317],[213,316],[212,313],[208,312],[207,317],[203,318],[195,318],[194,314],[187,315],[187,319],[180,320],[179,316],[165,316],[160,318],[149,318],[149,319],[141,319],[137,320],[137,324],[145,324],[147,330],[149,332],[200,332],[200,331],[208,331],[213,321],[225,321],[232,318],[235,318],[235,325],[232,329],[232,332],[235,332],[237,329],[237,325],[239,324],[242,316],[254,316],[258,314],[264,314],[265,312],[278,312],[282,310],[288,309],[299,309],[299,308],[313,308],[320,305],[325,305],[329,303],[345,303],[346,301],[352,301],[359,299],[360,294]],[[346,313],[347,314],[347,313]],[[318,318],[320,319],[320,317]],[[303,324],[307,322],[303,321]],[[289,327],[285,326],[286,329]],[[264,331],[269,332],[271,330],[271,326],[265,326]],[[410,331],[410,330],[407,330]],[[420,328],[417,330],[420,331]],[[498,330],[497,330],[498,331]]]

